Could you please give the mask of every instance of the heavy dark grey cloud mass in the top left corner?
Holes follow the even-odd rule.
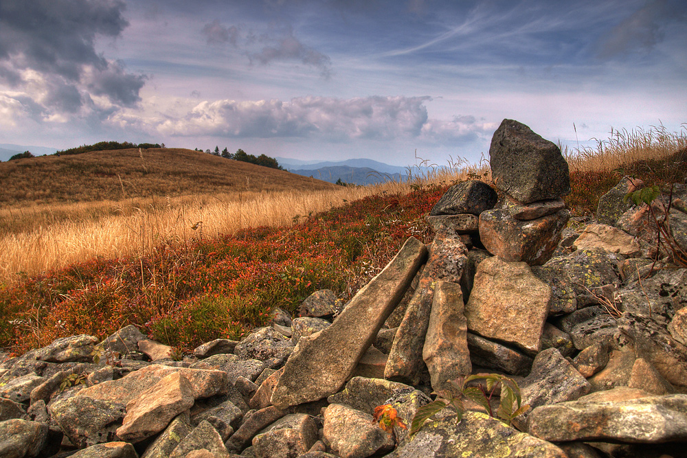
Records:
[[[98,106],[91,96],[135,106],[145,77],[95,50],[98,37],[115,38],[128,25],[124,6],[121,0],[3,0],[0,84],[14,94],[5,97],[27,104],[23,113],[36,120],[91,111]]]

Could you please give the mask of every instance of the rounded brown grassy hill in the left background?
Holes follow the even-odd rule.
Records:
[[[284,170],[179,148],[95,151],[3,162],[0,183],[0,203],[9,205],[333,187]]]

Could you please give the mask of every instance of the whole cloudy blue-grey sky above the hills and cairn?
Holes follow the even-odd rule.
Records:
[[[0,143],[488,159],[687,128],[684,0],[0,0]]]

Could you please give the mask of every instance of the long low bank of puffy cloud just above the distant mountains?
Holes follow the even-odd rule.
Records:
[[[237,138],[302,137],[329,142],[418,139],[471,140],[495,126],[472,116],[429,119],[429,97],[302,97],[288,102],[217,100],[196,104],[188,115],[159,122],[164,135]]]

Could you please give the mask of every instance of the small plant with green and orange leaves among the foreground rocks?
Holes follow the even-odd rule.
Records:
[[[477,385],[469,385],[475,380],[482,380]],[[446,407],[451,407],[456,413],[456,422],[462,420],[466,409],[463,404],[463,399],[469,399],[480,406],[484,407],[486,412],[491,417],[499,417],[506,422],[508,426],[513,423],[513,419],[530,409],[529,404],[522,405],[522,397],[520,388],[517,383],[511,378],[502,376],[501,374],[477,374],[464,378],[457,378],[449,380],[451,385],[455,387],[455,391],[442,390],[436,392],[440,397],[425,406],[420,407],[413,417],[410,425],[410,434],[415,434],[420,431],[425,421],[432,415],[436,415]],[[496,415],[491,407],[491,400],[497,396],[497,391],[500,388],[501,396],[499,407]],[[455,395],[458,392],[458,395]]]

